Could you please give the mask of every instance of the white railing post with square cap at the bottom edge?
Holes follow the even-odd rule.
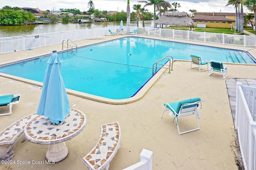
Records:
[[[140,162],[133,164],[123,170],[152,170],[153,152],[142,149],[140,153]]]

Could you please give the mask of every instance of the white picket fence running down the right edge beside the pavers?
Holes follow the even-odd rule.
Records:
[[[236,120],[240,151],[245,170],[256,169],[256,88],[236,84]]]

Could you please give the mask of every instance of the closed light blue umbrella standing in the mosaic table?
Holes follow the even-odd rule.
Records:
[[[52,51],[44,76],[42,94],[38,105],[37,115],[49,117],[49,120],[58,125],[65,120],[70,111],[68,95],[61,76],[62,60],[57,51]]]

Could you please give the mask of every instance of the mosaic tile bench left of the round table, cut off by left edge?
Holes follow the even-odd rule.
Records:
[[[36,113],[25,116],[0,132],[0,160],[11,160],[14,157],[14,141],[24,132],[26,123],[36,116]]]

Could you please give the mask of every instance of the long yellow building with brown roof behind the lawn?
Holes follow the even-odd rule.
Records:
[[[244,13],[246,16],[246,13]],[[235,13],[226,12],[194,12],[196,27],[232,28],[235,25]]]

